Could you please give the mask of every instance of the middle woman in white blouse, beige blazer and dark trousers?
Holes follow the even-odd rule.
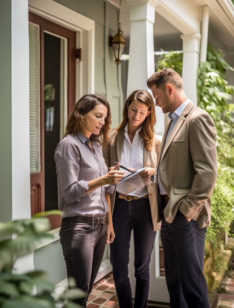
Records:
[[[126,194],[111,195],[115,241],[110,245],[110,260],[120,308],[132,308],[132,290],[128,277],[129,248],[134,231],[135,297],[134,308],[146,308],[149,292],[149,263],[156,231],[161,227],[161,214],[156,198],[155,178],[161,136],[155,133],[155,107],[147,91],[134,91],[126,100],[123,121],[111,133],[111,142],[104,151],[108,167],[120,162],[142,171],[140,188]],[[134,176],[138,177],[138,175]],[[124,184],[124,183],[123,183]]]

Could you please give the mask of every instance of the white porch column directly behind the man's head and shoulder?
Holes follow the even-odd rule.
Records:
[[[181,35],[183,40],[183,67],[182,78],[184,91],[192,101],[197,104],[197,69],[200,54],[200,33]]]

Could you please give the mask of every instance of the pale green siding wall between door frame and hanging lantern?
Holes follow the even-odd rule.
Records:
[[[95,21],[95,92],[104,95],[110,103],[112,127],[122,116],[123,94],[121,65],[115,64],[109,36],[117,33],[117,8],[105,0],[56,0],[56,2]]]

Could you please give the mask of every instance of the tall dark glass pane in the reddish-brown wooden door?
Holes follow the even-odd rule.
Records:
[[[54,153],[64,136],[67,119],[66,50],[66,38],[44,32],[45,211],[58,209]]]

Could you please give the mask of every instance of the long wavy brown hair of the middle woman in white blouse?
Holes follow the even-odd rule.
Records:
[[[156,116],[155,116],[155,108],[154,108],[154,100],[152,95],[145,90],[136,90],[127,98],[124,110],[123,110],[123,121],[117,128],[118,131],[124,130],[127,125],[128,119],[128,109],[129,105],[134,101],[138,101],[146,105],[148,110],[150,110],[150,114],[145,118],[145,121],[142,123],[141,130],[139,132],[140,137],[144,141],[145,148],[151,151],[154,147],[154,126],[156,124]]]

